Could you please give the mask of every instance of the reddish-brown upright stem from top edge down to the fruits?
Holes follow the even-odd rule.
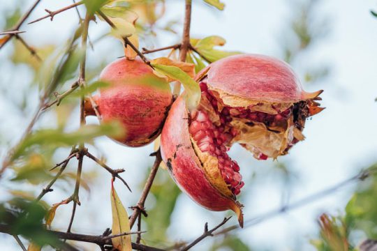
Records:
[[[190,45],[190,26],[191,26],[191,0],[185,0],[185,11],[184,11],[184,31],[182,33],[182,43],[179,49],[179,60],[182,62],[186,61],[186,55],[188,52],[188,47]],[[181,83],[175,82],[173,85],[173,95],[178,96],[181,91]]]

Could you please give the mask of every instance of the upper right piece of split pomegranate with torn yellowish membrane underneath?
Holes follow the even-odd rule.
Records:
[[[306,118],[324,108],[323,91],[303,91],[287,63],[269,56],[241,54],[207,66],[198,74],[202,100],[211,121],[235,142],[265,160],[285,155],[304,139]]]

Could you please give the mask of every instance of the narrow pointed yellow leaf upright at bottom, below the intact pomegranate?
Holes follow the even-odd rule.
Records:
[[[112,211],[112,234],[122,234],[130,231],[130,222],[128,221],[128,214],[126,209],[117,195],[114,189],[113,183],[111,183],[111,211]],[[112,238],[112,245],[119,251],[132,250],[131,235],[119,236]]]

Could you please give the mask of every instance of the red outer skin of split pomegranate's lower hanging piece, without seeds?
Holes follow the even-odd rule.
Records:
[[[226,197],[207,180],[188,132],[188,110],[180,96],[173,103],[161,133],[161,156],[179,188],[211,211],[235,211],[243,226],[241,204]]]

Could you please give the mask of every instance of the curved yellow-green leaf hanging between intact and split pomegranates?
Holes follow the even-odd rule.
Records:
[[[175,79],[184,85],[184,99],[188,109],[195,109],[200,102],[200,87],[187,73],[176,66],[164,66],[161,64],[152,64],[157,73]]]

